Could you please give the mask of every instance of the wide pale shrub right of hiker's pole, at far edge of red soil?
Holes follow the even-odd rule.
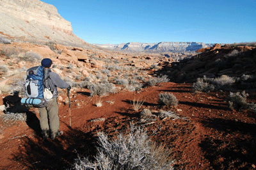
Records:
[[[100,83],[100,84],[89,84],[88,88],[90,89],[90,95],[106,95],[107,93],[114,93],[115,92],[115,86],[112,83]]]

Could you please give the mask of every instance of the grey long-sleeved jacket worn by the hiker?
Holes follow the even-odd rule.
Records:
[[[58,88],[61,89],[67,89],[69,87],[69,84],[67,84],[67,82],[63,81],[60,78],[60,75],[58,75],[57,73],[54,72],[49,72],[49,86],[50,89],[52,91],[53,97],[52,98],[56,98],[58,97]]]

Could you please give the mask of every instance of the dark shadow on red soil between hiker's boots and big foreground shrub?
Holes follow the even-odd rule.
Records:
[[[44,141],[38,135],[22,138],[22,146],[13,153],[13,160],[25,169],[68,169],[77,155],[93,159],[96,144],[93,132],[70,128],[54,140]]]

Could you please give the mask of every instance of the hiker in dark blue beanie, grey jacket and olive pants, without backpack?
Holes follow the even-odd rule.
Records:
[[[51,67],[52,60],[49,58],[42,59],[41,65],[44,66],[45,71]],[[57,87],[61,89],[67,88],[68,91],[71,89],[71,87],[69,84],[67,84],[67,82],[60,78],[60,75],[51,72],[50,69],[47,71],[49,73],[49,78],[45,81],[49,87],[46,86],[45,88],[51,89],[52,98],[49,100],[46,107],[38,108],[40,112],[40,127],[42,130],[43,139],[47,139],[48,137],[55,139],[59,135],[63,134],[63,132],[60,131],[60,120],[58,116]]]

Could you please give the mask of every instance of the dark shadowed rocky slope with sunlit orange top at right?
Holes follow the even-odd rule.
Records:
[[[172,81],[177,82],[195,82],[198,77],[204,76],[256,75],[256,47],[230,47],[216,43],[196,52],[202,53],[180,62],[166,63],[161,72],[168,72]]]

